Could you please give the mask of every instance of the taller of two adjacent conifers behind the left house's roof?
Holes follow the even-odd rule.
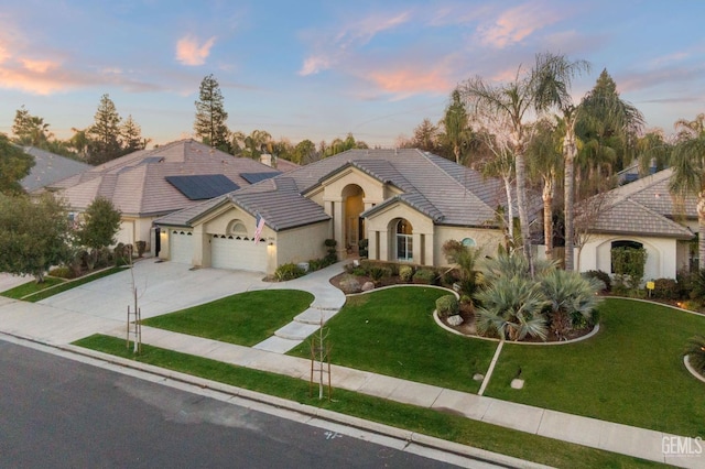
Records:
[[[94,164],[105,163],[120,156],[120,116],[115,102],[106,94],[100,98],[95,123],[88,128],[90,135],[89,161]]]

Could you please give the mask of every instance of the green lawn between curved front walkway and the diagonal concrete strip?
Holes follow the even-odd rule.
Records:
[[[460,337],[433,319],[435,301],[448,292],[420,286],[351,296],[327,324],[332,362],[458,391],[479,390],[497,342]],[[311,357],[310,343],[290,355]]]

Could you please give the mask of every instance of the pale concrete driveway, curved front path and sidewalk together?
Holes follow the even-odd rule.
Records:
[[[212,301],[238,291],[295,288],[313,293],[315,301],[310,309],[300,315],[292,325],[276,331],[273,338],[252,348],[142,327],[144,343],[304,380],[310,379],[311,361],[282,353],[301,343],[311,334],[306,334],[307,330],[316,330],[322,315],[324,321],[327,320],[345,303],[345,296],[328,282],[330,276],[341,272],[341,264],[314,272],[295,281],[275,284],[258,281],[256,275],[247,273],[210,269],[197,271],[195,275],[192,275],[194,272],[181,272],[180,275],[185,276],[188,282],[198,282],[196,291],[192,290],[192,295],[187,295],[183,291],[183,284],[176,279],[180,271],[177,266],[169,265],[170,263],[155,264],[152,261],[145,261],[142,266],[140,264],[142,262],[135,265],[135,276],[147,274],[147,277],[152,279],[153,284],[151,293],[150,288],[145,288],[143,292],[144,303],[140,302],[143,305],[143,317],[148,316],[145,315],[148,307],[154,308],[149,314],[149,316],[153,316]],[[163,273],[166,280],[158,280],[158,273]],[[121,284],[126,281],[120,275],[122,273],[101,279],[87,284],[96,285],[84,288],[83,292],[68,291],[40,304],[0,297],[0,331],[69,349],[72,346],[68,345],[72,341],[96,332],[124,337],[126,306],[130,302],[130,295],[128,290],[127,296],[120,296],[122,293],[119,293],[118,290],[122,287],[117,288],[116,283]],[[112,279],[111,286],[108,279]],[[236,280],[241,284],[231,283]],[[230,285],[225,288],[227,292],[224,292],[221,287],[213,285],[212,282],[227,282]],[[76,301],[83,303],[78,305],[75,303]],[[112,302],[122,303],[115,305]],[[102,305],[99,306],[99,303]],[[176,304],[180,307],[175,307]],[[304,336],[304,334],[306,335]],[[86,351],[82,349],[82,352]],[[677,445],[679,440],[686,440],[683,436],[679,438],[661,432],[478,396],[345,367],[333,366],[330,378],[335,389],[346,389],[451,412],[507,428],[653,461],[686,468],[705,467],[705,455],[702,454],[705,451],[688,457],[668,454],[669,448],[672,450],[673,447],[664,447],[664,441],[671,444],[676,441]],[[705,444],[699,441],[691,446],[693,449],[698,449],[698,445],[702,445],[705,450]]]

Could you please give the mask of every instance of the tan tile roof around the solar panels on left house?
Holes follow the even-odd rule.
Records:
[[[124,215],[164,215],[198,205],[166,181],[167,176],[223,174],[239,187],[241,173],[270,173],[258,161],[232,156],[195,140],[180,140],[141,150],[93,167],[53,185],[74,209],[85,209],[97,196],[112,201]]]

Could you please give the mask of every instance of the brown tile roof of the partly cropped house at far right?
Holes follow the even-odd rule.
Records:
[[[606,207],[599,210],[593,232],[618,234],[646,234],[691,239],[694,233],[674,219],[682,217],[696,219],[696,198],[685,198],[684,212],[680,212],[674,198],[669,193],[669,182],[673,172],[664,170],[642,177],[633,183],[617,187],[604,196]],[[596,196],[589,200],[597,200]],[[577,218],[577,217],[576,217]]]

